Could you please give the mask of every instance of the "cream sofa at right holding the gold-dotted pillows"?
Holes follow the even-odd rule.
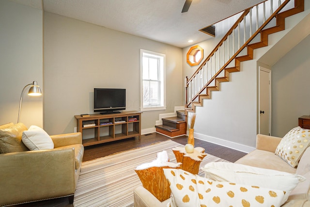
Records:
[[[306,177],[306,181],[300,182],[297,185],[290,193],[286,203],[281,207],[310,207],[310,147],[304,152],[298,167],[293,168],[278,155],[275,155],[276,148],[281,139],[279,137],[258,134],[256,149],[235,163],[303,175]],[[134,190],[135,207],[166,207],[170,200],[171,198],[160,202],[142,186]]]

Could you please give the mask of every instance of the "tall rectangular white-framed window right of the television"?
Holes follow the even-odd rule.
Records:
[[[166,55],[140,50],[141,111],[165,110]]]

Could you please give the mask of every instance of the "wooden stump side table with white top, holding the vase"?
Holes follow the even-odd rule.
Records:
[[[198,174],[200,163],[202,159],[207,156],[202,147],[195,147],[193,153],[187,153],[185,147],[172,148],[172,152],[174,153],[176,161],[182,163],[181,169],[194,175]]]

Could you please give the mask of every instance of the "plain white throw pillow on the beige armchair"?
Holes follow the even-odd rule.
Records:
[[[54,143],[45,130],[32,125],[21,137],[23,143],[30,150],[53,149]]]

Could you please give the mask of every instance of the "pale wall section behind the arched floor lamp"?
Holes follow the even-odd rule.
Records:
[[[36,80],[43,90],[43,12],[0,0],[0,125],[17,122],[25,85]],[[20,122],[43,126],[43,97],[25,90]],[[44,90],[43,90],[44,93]]]

